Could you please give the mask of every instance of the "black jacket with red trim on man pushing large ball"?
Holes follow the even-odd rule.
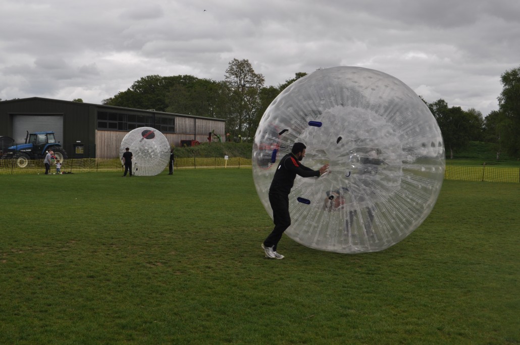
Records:
[[[269,193],[289,194],[294,184],[296,175],[301,177],[319,177],[319,170],[307,168],[298,161],[293,153],[283,156],[276,168],[275,177],[272,178]]]

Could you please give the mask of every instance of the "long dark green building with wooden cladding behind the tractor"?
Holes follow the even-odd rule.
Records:
[[[209,133],[225,138],[225,120],[80,103],[40,97],[0,101],[0,134],[24,143],[27,131],[55,132],[69,158],[114,158],[127,132],[152,127],[173,147],[209,141]]]

